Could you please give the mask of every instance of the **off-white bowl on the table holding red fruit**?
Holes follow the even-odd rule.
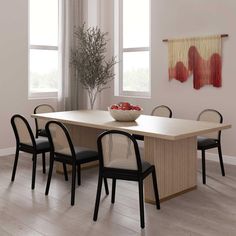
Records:
[[[108,107],[108,111],[116,121],[135,121],[143,112],[137,110],[115,110]]]

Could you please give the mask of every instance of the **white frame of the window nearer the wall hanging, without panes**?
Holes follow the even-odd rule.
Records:
[[[118,63],[115,66],[115,96],[151,97],[151,0],[149,1],[149,47],[123,48],[123,0],[114,3],[114,54]],[[149,52],[149,91],[124,91],[123,90],[123,53],[124,52]]]

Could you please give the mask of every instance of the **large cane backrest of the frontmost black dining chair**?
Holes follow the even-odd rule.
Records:
[[[137,141],[129,133],[110,130],[97,140],[100,168],[142,171]]]

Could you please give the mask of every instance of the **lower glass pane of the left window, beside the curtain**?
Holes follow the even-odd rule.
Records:
[[[58,52],[30,50],[30,92],[55,92],[58,86]]]

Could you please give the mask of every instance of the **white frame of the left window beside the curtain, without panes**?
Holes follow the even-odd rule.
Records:
[[[50,45],[34,45],[30,44],[30,0],[28,0],[28,98],[29,99],[41,99],[41,98],[57,98],[58,96],[58,91],[51,91],[51,92],[32,92],[30,91],[30,51],[31,49],[35,50],[53,50],[53,51],[58,51],[58,63],[59,63],[59,32],[60,29],[58,30],[58,46],[50,46]],[[58,17],[60,11],[60,0],[58,0]],[[60,18],[58,18],[58,28],[60,27]],[[59,81],[59,78],[58,78]]]

